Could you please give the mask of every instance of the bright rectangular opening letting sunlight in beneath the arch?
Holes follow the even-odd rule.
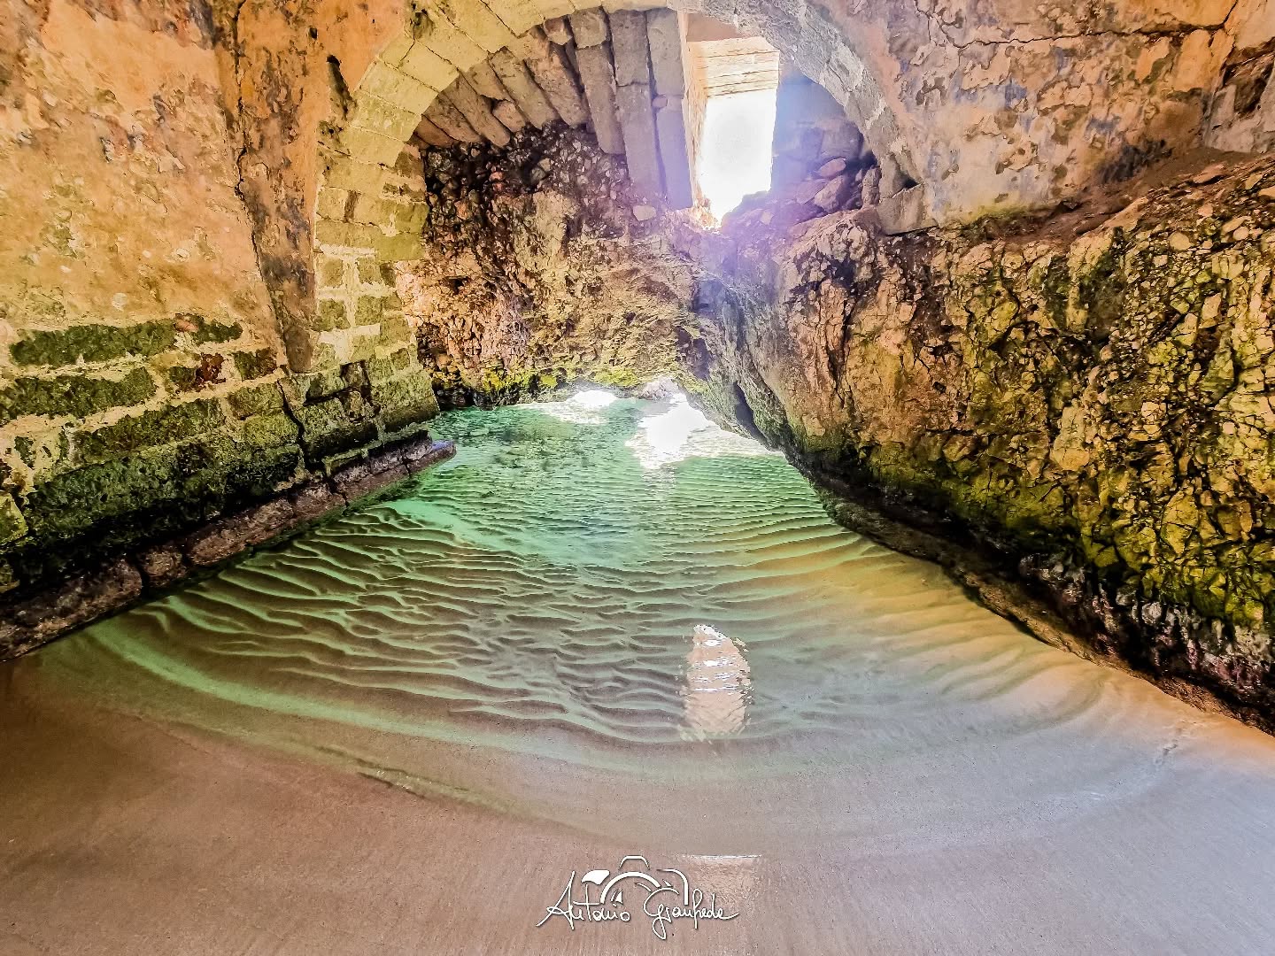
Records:
[[[720,221],[770,189],[779,52],[703,17],[688,18],[686,50],[696,189]]]

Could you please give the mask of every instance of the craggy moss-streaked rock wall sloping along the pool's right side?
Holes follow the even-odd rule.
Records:
[[[1272,185],[1248,161],[1114,215],[755,235],[703,322],[709,400],[970,535],[1103,649],[1269,715]]]

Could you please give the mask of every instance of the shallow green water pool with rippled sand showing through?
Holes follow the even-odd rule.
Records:
[[[903,786],[1016,748],[1046,781],[1030,799],[1070,807],[1150,779],[1117,748],[1084,780],[1048,780],[1058,747],[1128,719],[1112,674],[834,525],[780,456],[688,414],[627,399],[451,413],[436,431],[459,455],[398,498],[48,663],[113,676],[168,718],[483,800],[505,781],[449,776],[421,748],[686,781],[808,774],[833,747],[843,770],[894,766]]]

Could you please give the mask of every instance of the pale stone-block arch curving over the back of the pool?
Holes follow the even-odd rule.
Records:
[[[894,171],[892,191],[915,176],[912,150],[881,85],[844,32],[815,5],[622,0],[601,9],[664,6],[760,33],[858,121],[878,159]],[[547,20],[594,9],[589,0],[417,3],[403,31],[348,93],[338,84],[344,122],[320,143],[315,320],[309,342],[289,349],[295,371],[386,358],[411,348],[389,273],[393,263],[419,251],[421,210],[413,201],[405,144],[458,76],[502,51],[533,56],[528,37]]]

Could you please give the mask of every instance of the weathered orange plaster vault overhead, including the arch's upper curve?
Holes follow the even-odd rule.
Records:
[[[1264,46],[1275,32],[1261,0],[672,6],[764,37],[824,85],[863,130],[882,166],[882,198],[899,196],[904,222],[1049,206],[1201,141],[1243,148],[1270,135],[1255,106],[1255,88],[1265,89]],[[570,0],[451,0],[417,3],[404,18],[386,0],[296,10],[249,0],[222,13],[219,36],[232,51],[224,74],[240,92],[242,191],[286,326],[312,302],[320,181],[354,187],[353,222],[393,237],[389,210],[374,212],[385,180],[376,170],[393,168],[439,93],[458,87],[462,74],[470,87],[491,74],[516,84],[507,79],[516,62],[552,62],[546,22],[594,9]],[[572,46],[578,59],[588,48]],[[580,119],[578,107],[565,108]],[[320,127],[332,134],[320,138]],[[613,130],[609,138],[615,149]],[[332,206],[319,199],[320,227]],[[292,335],[289,348],[293,361],[307,361],[305,335]]]

